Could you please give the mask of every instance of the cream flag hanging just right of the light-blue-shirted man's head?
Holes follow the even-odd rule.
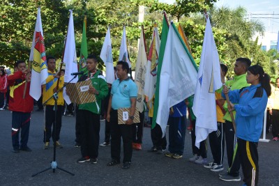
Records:
[[[147,65],[146,56],[146,42],[144,37],[144,27],[140,34],[140,44],[137,52],[137,63],[135,63],[135,84],[137,84],[137,109],[144,111],[144,84],[145,84],[145,71]]]

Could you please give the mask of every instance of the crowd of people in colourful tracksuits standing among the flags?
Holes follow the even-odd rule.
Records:
[[[56,72],[56,59],[47,57],[48,77],[43,85],[42,102],[45,112],[45,128],[43,131],[43,149],[50,148],[50,140],[56,148],[62,148],[59,143],[62,124],[62,115],[65,109],[63,93],[58,92],[57,107],[54,111],[52,95],[63,87],[63,72]],[[88,93],[95,95],[95,102],[86,102],[75,105],[75,147],[80,147],[81,157],[78,163],[98,162],[99,146],[110,146],[112,160],[107,166],[121,163],[121,138],[123,141],[123,166],[129,169],[132,162],[133,148],[142,150],[142,129],[144,113],[137,114],[137,85],[128,76],[129,66],[119,61],[115,70],[115,81],[107,84],[102,71],[96,67],[98,59],[89,55],[86,59],[88,73],[79,78],[79,82],[91,81]],[[221,64],[223,77],[227,67]],[[239,169],[242,167],[245,185],[257,185],[259,178],[259,157],[257,143],[262,134],[264,110],[267,106],[268,124],[272,125],[273,140],[279,141],[279,78],[276,79],[276,88],[271,88],[270,77],[261,66],[252,65],[247,58],[236,59],[234,63],[233,79],[228,80],[216,91],[216,113],[218,130],[209,134],[209,144],[213,160],[207,158],[207,140],[201,141],[199,148],[195,146],[195,114],[193,114],[193,100],[191,95],[186,100],[169,108],[169,137],[163,134],[160,125],[151,125],[151,141],[153,146],[150,153],[164,154],[166,157],[179,159],[183,157],[184,141],[186,136],[186,112],[191,128],[193,157],[190,162],[202,164],[211,171],[223,171],[223,157],[226,144],[227,164],[229,169],[219,174],[220,180],[240,181]],[[20,150],[31,151],[27,146],[33,98],[29,95],[31,72],[24,61],[15,63],[13,75],[6,75],[7,71],[0,69],[0,109],[9,107],[12,116],[13,153]],[[10,93],[8,93],[10,88]],[[66,93],[71,92],[66,89]],[[6,98],[8,94],[8,98]],[[229,101],[226,100],[228,95]],[[153,97],[149,104],[150,123],[153,118]],[[73,111],[73,105],[70,106]],[[128,108],[128,111],[120,111]],[[39,109],[42,109],[39,107]],[[233,113],[233,118],[231,117]],[[105,121],[105,139],[100,144],[100,118]],[[135,123],[140,116],[140,123]],[[235,123],[234,124],[234,120]],[[123,121],[123,122],[122,122]],[[54,127],[54,124],[56,127]],[[21,139],[19,139],[21,130]],[[167,145],[168,144],[168,145]]]

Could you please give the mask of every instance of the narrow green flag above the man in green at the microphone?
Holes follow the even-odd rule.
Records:
[[[87,40],[86,40],[86,15],[84,16],[83,20],[83,29],[82,29],[82,45],[80,47],[80,66],[79,66],[79,71],[83,71],[84,73],[87,73],[87,68],[86,68],[86,59],[88,56],[88,51],[87,51]]]

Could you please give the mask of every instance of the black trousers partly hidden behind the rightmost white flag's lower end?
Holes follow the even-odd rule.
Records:
[[[207,157],[206,139],[204,141],[201,141],[199,143],[199,148],[197,148],[197,146],[195,146],[195,142],[196,142],[196,133],[195,132],[196,132],[196,121],[193,120],[192,121],[192,131],[191,131],[193,155],[198,155],[198,156],[202,156],[202,158],[206,158]]]

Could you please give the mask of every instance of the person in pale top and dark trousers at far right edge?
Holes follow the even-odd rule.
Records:
[[[279,141],[279,77],[276,79],[276,88],[271,92],[269,114],[272,119],[272,140]]]

